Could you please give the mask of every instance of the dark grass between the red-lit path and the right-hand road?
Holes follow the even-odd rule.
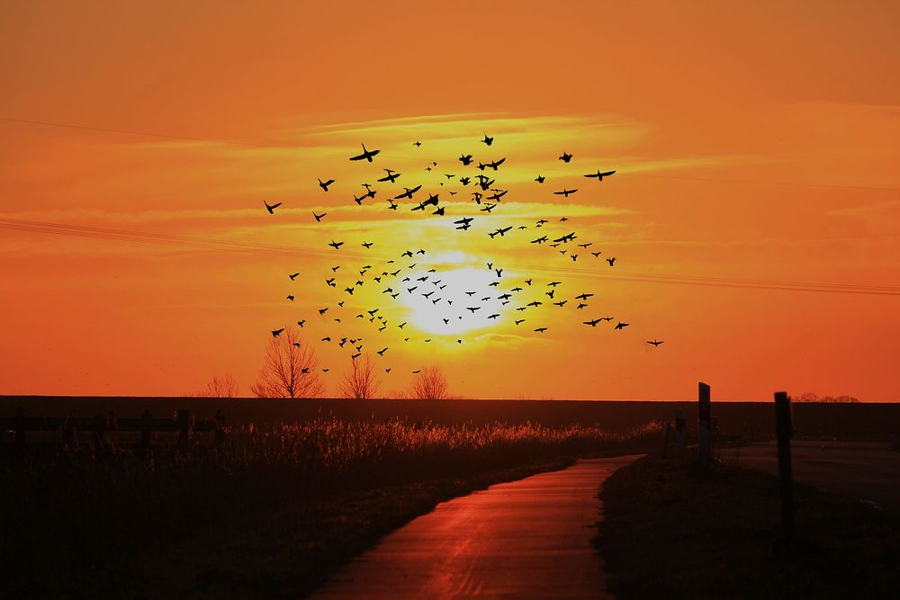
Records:
[[[601,491],[595,545],[619,598],[896,598],[900,519],[798,485],[781,549],[778,480],[645,458]]]

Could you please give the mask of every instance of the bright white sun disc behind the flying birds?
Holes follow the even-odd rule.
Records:
[[[410,281],[403,282],[401,300],[412,309],[410,322],[430,334],[456,335],[495,327],[508,308],[499,298],[503,291],[491,286],[499,278],[484,268],[438,273],[419,270],[409,277]]]

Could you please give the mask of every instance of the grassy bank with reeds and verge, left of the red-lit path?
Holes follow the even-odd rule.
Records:
[[[296,597],[438,502],[633,452],[660,426],[431,425],[322,418],[234,428],[146,457],[0,455],[0,564],[14,597]],[[8,449],[7,449],[8,450]]]

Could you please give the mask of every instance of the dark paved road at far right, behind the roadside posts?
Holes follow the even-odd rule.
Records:
[[[900,452],[887,443],[795,441],[791,443],[791,463],[796,481],[875,503],[900,515]],[[739,464],[777,475],[778,447],[775,443],[743,446]]]

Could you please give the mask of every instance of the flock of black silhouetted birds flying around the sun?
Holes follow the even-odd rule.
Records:
[[[481,142],[486,147],[491,147],[494,139],[485,135]],[[413,146],[416,148],[420,148],[422,146],[421,142],[416,141],[413,142]],[[362,153],[355,155],[353,157],[349,157],[351,161],[365,161],[367,163],[374,163],[374,158],[377,157],[381,150],[374,149],[370,150],[365,148],[365,144],[362,145],[363,151]],[[559,157],[559,160],[564,164],[570,164],[572,162],[572,153],[563,152],[562,156]],[[496,180],[491,178],[492,175],[498,171],[500,166],[502,166],[506,162],[506,158],[500,159],[491,159],[489,162],[481,162],[476,161],[473,158],[472,154],[464,154],[458,158],[458,161],[461,163],[463,167],[467,167],[469,173],[466,175],[455,175],[452,173],[443,174],[446,178],[446,183],[449,184],[455,180],[455,183],[459,184],[462,188],[471,187],[471,196],[473,203],[477,206],[477,211],[491,214],[492,210],[495,210],[500,206],[500,202],[503,197],[509,193],[509,190],[500,189],[499,187],[495,187]],[[427,167],[426,170],[428,172],[433,172],[437,167],[437,161],[432,161]],[[473,171],[477,170],[477,173],[473,173]],[[406,209],[409,207],[411,211],[421,210],[423,214],[428,210],[432,215],[437,215],[439,217],[446,216],[446,206],[442,206],[440,204],[440,194],[447,193],[447,195],[453,197],[456,194],[460,193],[461,189],[450,190],[448,186],[445,186],[445,181],[442,180],[439,184],[439,187],[443,188],[439,193],[431,193],[431,192],[423,192],[422,184],[415,184],[412,187],[406,187],[402,184],[397,184],[398,180],[401,178],[401,173],[394,171],[390,168],[383,168],[384,175],[379,177],[376,181],[379,184],[385,185],[396,185],[402,188],[402,192],[399,189],[394,189],[392,193],[389,193],[385,201],[388,202],[389,210],[400,210],[401,206]],[[589,180],[596,180],[598,183],[601,183],[605,178],[614,175],[615,171],[600,171],[597,170],[596,173],[590,173],[587,175],[583,175],[585,178]],[[535,178],[537,184],[544,184],[546,181],[546,177],[544,175],[537,175]],[[325,180],[319,179],[319,186],[324,193],[330,192],[331,185],[335,184],[336,181],[333,178],[326,178]],[[374,189],[372,184],[360,184],[360,187],[363,188],[359,195],[356,193],[353,194],[353,201],[356,202],[356,205],[362,206],[365,201],[374,201],[375,196],[381,190]],[[562,196],[563,200],[568,198],[574,193],[578,193],[578,188],[566,188],[563,186],[562,190],[554,191],[553,194],[557,196]],[[418,193],[422,192],[417,196]],[[427,199],[424,198],[425,195],[428,195]],[[409,203],[405,202],[409,201]],[[402,203],[401,203],[402,202]],[[266,210],[269,214],[275,214],[275,210],[282,205],[281,202],[275,204],[268,204],[264,201],[264,205],[266,206]],[[328,216],[327,212],[317,213],[315,210],[312,212],[312,217],[315,219],[317,223],[321,222],[322,219],[325,219]],[[457,230],[468,230],[472,228],[473,222],[476,217],[465,216],[460,219],[455,219],[453,224]],[[565,223],[569,219],[566,217],[562,217],[559,219],[560,223]],[[513,229],[524,230],[529,228],[541,229],[545,228],[545,226],[549,225],[550,221],[548,219],[538,219],[535,224],[531,227],[526,225],[520,225],[515,227],[514,225],[508,225],[506,227],[496,228],[493,231],[488,232],[488,236],[491,239],[496,237],[506,237],[510,234]],[[545,231],[545,229],[543,230]],[[541,233],[543,233],[543,231]],[[590,249],[590,246],[593,246],[592,242],[584,242],[584,243],[575,243],[575,240],[578,239],[575,231],[569,231],[568,233],[563,233],[560,235],[551,235],[550,233],[546,233],[544,235],[538,235],[535,239],[529,240],[530,244],[543,246],[546,245],[548,248],[554,248],[559,255],[563,256],[563,258],[568,258],[572,260],[572,262],[576,262],[581,254],[587,256],[593,256],[594,259],[597,259],[603,253],[600,251],[593,251]],[[331,239],[328,246],[332,247],[335,251],[339,251],[342,246],[345,246],[345,241],[335,241]],[[571,246],[570,246],[571,244]],[[369,250],[374,246],[373,242],[363,240],[360,243],[360,246],[365,248],[365,250]],[[442,320],[444,321],[446,326],[450,326],[451,323],[455,321],[463,321],[465,318],[473,318],[476,313],[480,315],[484,315],[486,313],[490,313],[487,317],[482,321],[482,325],[487,325],[491,320],[496,321],[500,318],[500,310],[509,305],[512,302],[516,302],[517,306],[515,310],[521,315],[515,318],[515,326],[521,327],[523,324],[530,319],[530,315],[535,314],[537,310],[544,306],[545,304],[555,306],[558,309],[563,309],[567,305],[569,305],[570,300],[572,301],[572,305],[575,305],[576,310],[589,309],[589,301],[594,296],[594,293],[590,292],[581,292],[581,294],[572,296],[572,298],[561,298],[557,295],[558,286],[562,284],[562,282],[552,281],[546,282],[544,285],[540,285],[535,282],[535,278],[532,276],[529,279],[524,280],[523,287],[521,284],[516,285],[515,287],[503,288],[500,289],[500,285],[505,283],[503,280],[503,268],[499,266],[495,266],[493,263],[487,264],[488,272],[491,273],[491,281],[488,284],[488,287],[496,288],[497,293],[488,293],[484,295],[482,291],[482,295],[480,298],[476,298],[479,295],[479,292],[468,290],[464,291],[464,295],[460,294],[459,291],[450,290],[447,291],[448,283],[444,281],[440,273],[437,272],[436,269],[428,269],[424,274],[420,274],[419,276],[415,276],[417,273],[417,257],[421,255],[425,255],[426,251],[423,248],[419,248],[416,251],[411,249],[406,250],[401,255],[396,256],[393,259],[387,260],[385,263],[380,264],[378,267],[374,267],[373,264],[364,264],[361,268],[354,269],[352,273],[347,277],[346,282],[338,283],[338,277],[343,276],[344,273],[351,271],[349,267],[342,264],[337,264],[331,267],[332,276],[328,277],[325,280],[325,284],[330,288],[338,291],[338,293],[342,294],[342,298],[338,300],[335,304],[322,307],[318,309],[320,318],[333,318],[333,321],[337,324],[343,324],[347,326],[347,319],[353,319],[353,323],[356,325],[357,320],[361,320],[363,324],[368,323],[370,326],[374,327],[374,333],[380,334],[383,333],[391,324],[385,318],[383,314],[383,307],[374,307],[373,309],[364,309],[361,312],[356,313],[355,315],[345,315],[344,312],[340,312],[341,309],[345,308],[345,303],[347,300],[351,300],[354,295],[354,291],[359,290],[366,283],[370,283],[370,287],[377,285],[383,288],[381,293],[385,296],[385,300],[390,296],[391,300],[397,300],[401,294],[419,294],[424,300],[431,302],[436,309],[442,309]],[[404,260],[408,259],[408,260]],[[603,259],[608,264],[608,267],[613,267],[616,264],[615,256],[604,256]],[[585,259],[590,260],[590,259]],[[401,264],[401,261],[402,264]],[[411,263],[411,264],[407,264]],[[344,269],[341,271],[341,269]],[[358,277],[356,276],[358,273]],[[301,273],[290,273],[288,276],[291,281],[295,281]],[[480,285],[476,285],[473,287],[482,287]],[[293,294],[289,294],[286,297],[286,300],[294,301],[295,296]],[[530,300],[530,301],[526,301]],[[335,309],[335,310],[332,310]],[[329,310],[332,310],[331,315],[327,316]],[[480,312],[480,311],[484,312]],[[339,316],[333,316],[335,312],[339,313]],[[297,325],[299,327],[304,327],[306,325],[306,318],[297,321]],[[629,324],[623,322],[621,320],[617,320],[613,317],[598,317],[598,318],[586,318],[581,322],[585,326],[589,327],[597,327],[601,323],[612,323],[612,321],[616,320],[616,325],[613,326],[613,329],[620,330],[629,327]],[[393,327],[398,327],[399,329],[403,329],[406,327],[407,323],[403,322]],[[536,334],[544,334],[548,327],[543,325],[539,319],[537,319],[536,325],[538,327],[532,327],[533,332]],[[356,331],[356,327],[354,327]],[[280,336],[284,332],[284,327],[276,328],[272,330],[272,336],[277,337]],[[405,342],[410,341],[410,337],[404,337],[403,340]],[[424,338],[421,340],[423,342],[431,342],[431,338]],[[343,348],[350,354],[351,359],[356,360],[363,353],[363,348],[365,347],[363,343],[363,336],[360,335],[347,335],[347,336],[335,336],[331,335],[324,336],[320,340],[321,343],[334,343],[337,344],[340,348]],[[462,344],[463,339],[457,338],[457,344]],[[652,341],[647,341],[647,344],[653,345],[654,347],[658,347],[663,342],[661,340],[653,339]],[[294,345],[300,345],[300,342],[294,342]],[[385,346],[379,350],[376,350],[376,354],[380,356],[384,356],[387,353],[389,347]],[[322,369],[323,372],[328,372],[328,368]],[[385,372],[390,373],[392,369],[386,368]],[[304,372],[309,372],[309,370],[304,370]],[[413,373],[417,373],[419,370],[413,371]]]

